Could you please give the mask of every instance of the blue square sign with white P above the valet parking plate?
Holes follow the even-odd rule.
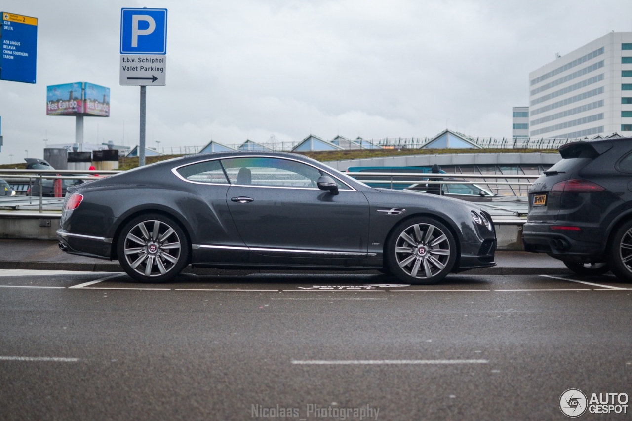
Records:
[[[121,54],[167,54],[167,9],[121,9]]]

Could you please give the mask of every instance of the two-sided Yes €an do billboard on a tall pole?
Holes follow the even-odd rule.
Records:
[[[46,87],[47,116],[110,116],[110,88],[88,82]]]

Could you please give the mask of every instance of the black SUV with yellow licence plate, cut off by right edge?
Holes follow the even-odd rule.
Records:
[[[529,188],[525,250],[632,282],[632,138],[567,143]]]

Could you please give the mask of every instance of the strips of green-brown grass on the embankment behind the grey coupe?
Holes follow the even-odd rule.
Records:
[[[316,159],[317,161],[342,161],[347,159],[365,159],[392,156],[409,155],[446,155],[446,154],[530,154],[544,153],[557,154],[557,149],[354,149],[354,150],[315,150],[300,152],[301,155]],[[165,161],[181,155],[164,155],[145,157],[145,164]],[[119,169],[127,170],[137,168],[138,158],[119,158]],[[25,169],[26,162],[19,164],[2,164],[0,169]]]

